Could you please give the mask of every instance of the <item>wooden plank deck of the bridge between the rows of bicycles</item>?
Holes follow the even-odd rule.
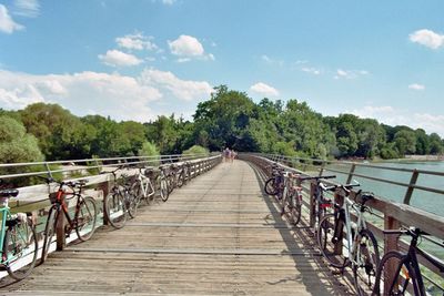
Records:
[[[261,182],[246,162],[221,163],[122,229],[50,254],[0,295],[353,295]]]

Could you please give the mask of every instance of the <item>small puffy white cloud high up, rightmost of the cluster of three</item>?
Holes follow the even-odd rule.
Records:
[[[174,41],[168,41],[168,45],[171,53],[179,57],[179,62],[190,61],[191,59],[214,60],[214,55],[206,54],[202,43],[191,35],[180,35]]]

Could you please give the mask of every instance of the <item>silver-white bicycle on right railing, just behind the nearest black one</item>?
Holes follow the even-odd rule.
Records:
[[[331,266],[343,271],[351,265],[357,295],[371,295],[380,253],[376,238],[366,226],[364,213],[370,212],[365,203],[374,197],[360,191],[356,196],[361,196],[361,202],[351,201],[347,196],[354,186],[359,184],[333,185],[326,188],[344,191],[345,198],[343,205],[334,204],[333,214],[326,214],[320,221],[317,243]],[[351,210],[356,213],[355,225],[352,225]]]

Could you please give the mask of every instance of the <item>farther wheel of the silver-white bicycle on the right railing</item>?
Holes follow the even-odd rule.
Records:
[[[346,234],[344,222],[339,220],[337,223],[337,227],[343,231],[340,233],[340,237],[334,238],[334,229],[336,227],[335,216],[333,214],[323,216],[317,226],[317,243],[322,255],[330,265],[342,268],[346,264],[346,258],[344,256],[344,252],[346,251],[342,247],[342,237],[346,237]]]

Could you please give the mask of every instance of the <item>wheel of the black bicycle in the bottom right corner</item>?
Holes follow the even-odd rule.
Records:
[[[390,278],[386,273],[386,271],[390,268],[389,266],[392,266],[392,268],[395,267],[393,268],[395,272]],[[405,275],[402,275],[402,273],[406,273],[406,278]],[[408,288],[408,285],[413,285],[414,289],[417,289],[415,280],[416,275],[413,272],[411,265],[407,264],[407,255],[398,251],[389,251],[382,257],[381,263],[377,267],[373,295],[404,295],[406,289]],[[390,285],[387,290],[385,290],[386,284]],[[421,294],[415,293],[414,295]]]

